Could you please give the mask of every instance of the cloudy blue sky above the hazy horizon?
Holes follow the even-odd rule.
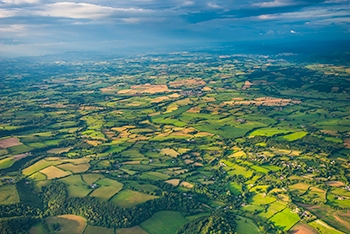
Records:
[[[0,57],[350,41],[350,0],[0,0]]]

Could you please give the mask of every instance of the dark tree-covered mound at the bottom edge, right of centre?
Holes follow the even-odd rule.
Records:
[[[229,211],[217,211],[183,225],[176,234],[221,234],[234,233],[237,226],[235,216]]]

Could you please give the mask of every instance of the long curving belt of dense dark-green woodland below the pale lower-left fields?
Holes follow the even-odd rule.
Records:
[[[164,194],[159,199],[141,203],[132,208],[117,205],[96,197],[67,198],[63,183],[52,181],[43,188],[45,215],[74,214],[85,217],[91,225],[127,228],[140,224],[161,210],[176,210],[184,215],[193,214],[199,203],[177,193]]]

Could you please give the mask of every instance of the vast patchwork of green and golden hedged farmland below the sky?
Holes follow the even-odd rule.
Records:
[[[342,56],[6,61],[0,218],[30,233],[175,234],[222,217],[240,234],[350,233]]]

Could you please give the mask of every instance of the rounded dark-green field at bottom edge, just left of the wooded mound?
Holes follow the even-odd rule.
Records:
[[[140,226],[149,234],[176,233],[188,221],[176,211],[160,211]]]

